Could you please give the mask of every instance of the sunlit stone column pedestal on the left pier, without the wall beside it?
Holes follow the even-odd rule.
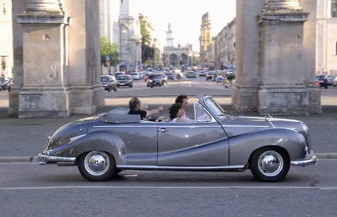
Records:
[[[27,0],[17,15],[23,28],[23,77],[19,118],[69,116],[69,94],[64,84],[67,26],[60,1]]]

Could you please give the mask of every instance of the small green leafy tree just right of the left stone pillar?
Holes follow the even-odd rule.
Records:
[[[109,42],[108,37],[101,36],[101,64],[106,67],[116,66],[120,63],[119,57],[118,46]]]

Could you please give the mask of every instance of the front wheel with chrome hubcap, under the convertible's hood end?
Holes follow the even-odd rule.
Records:
[[[249,162],[250,171],[261,182],[279,182],[289,171],[288,155],[277,147],[256,150]]]

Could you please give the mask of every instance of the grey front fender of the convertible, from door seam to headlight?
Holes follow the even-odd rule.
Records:
[[[247,164],[254,150],[264,146],[279,146],[290,160],[306,157],[306,139],[293,130],[268,129],[229,138],[229,165]]]

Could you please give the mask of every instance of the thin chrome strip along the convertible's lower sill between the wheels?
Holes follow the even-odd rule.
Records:
[[[244,169],[245,165],[236,166],[142,166],[142,165],[117,165],[120,169],[129,170],[156,170],[156,171],[229,171]]]

